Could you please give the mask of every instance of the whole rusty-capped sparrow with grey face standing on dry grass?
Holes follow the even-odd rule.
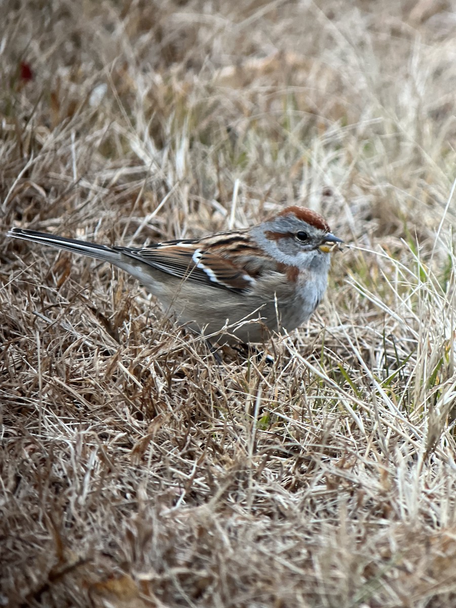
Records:
[[[242,342],[262,342],[265,329],[291,331],[309,319],[325,293],[329,254],[343,242],[305,207],[288,207],[252,228],[143,249],[19,228],[8,235],[108,261],[137,278],[179,322],[206,335],[229,324]]]

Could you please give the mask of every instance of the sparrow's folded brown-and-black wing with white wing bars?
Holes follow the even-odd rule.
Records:
[[[198,246],[193,241],[171,241],[144,249],[112,247],[142,263],[149,264],[173,277],[195,283],[229,289],[237,293],[250,291],[255,277],[232,261]]]

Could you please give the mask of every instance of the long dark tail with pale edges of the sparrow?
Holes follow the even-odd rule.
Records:
[[[122,254],[119,251],[112,249],[107,245],[98,245],[96,243],[88,243],[88,241],[77,241],[74,238],[57,237],[54,234],[46,232],[36,232],[36,230],[22,230],[21,228],[12,228],[7,233],[8,237],[22,238],[32,243],[42,243],[56,249],[66,249],[73,254],[89,255],[97,260],[111,262],[111,264],[119,265]]]

